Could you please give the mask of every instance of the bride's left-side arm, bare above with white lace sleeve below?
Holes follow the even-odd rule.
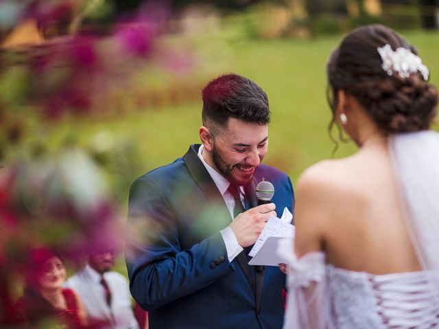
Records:
[[[289,297],[284,328],[322,328],[328,319],[324,278],[324,230],[327,226],[329,186],[320,167],[311,167],[296,187],[296,258],[289,265]]]

